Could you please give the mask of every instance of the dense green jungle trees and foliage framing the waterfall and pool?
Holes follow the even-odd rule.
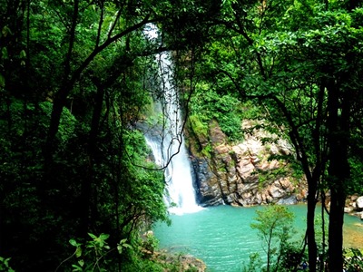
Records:
[[[1,0],[0,30],[3,267],[64,269],[75,247],[86,265],[160,268],[139,247],[167,220],[164,181],[136,124],[162,96],[153,55],[168,50],[193,131],[218,121],[239,141],[255,118],[290,141],[309,269],[319,256],[342,270],[345,199],[362,193],[361,1]],[[315,205],[328,191],[327,251]]]

